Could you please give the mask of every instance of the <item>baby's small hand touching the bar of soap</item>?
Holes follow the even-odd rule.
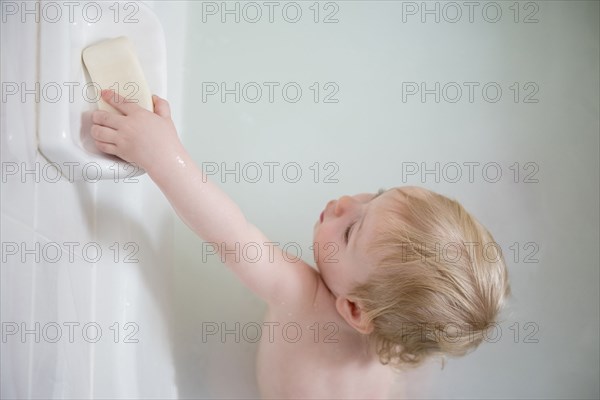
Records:
[[[152,96],[152,113],[136,103],[125,101],[112,90],[103,90],[102,99],[124,115],[94,111],[91,134],[100,151],[148,171],[151,165],[160,164],[161,158],[169,157],[171,151],[177,151],[181,146],[166,100]]]

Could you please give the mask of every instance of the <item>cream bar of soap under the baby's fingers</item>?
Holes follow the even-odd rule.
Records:
[[[92,82],[102,89],[112,89],[134,101],[146,110],[154,111],[152,93],[146,83],[144,71],[135,54],[133,44],[125,37],[107,39],[86,47],[82,54]],[[121,115],[122,113],[107,104],[98,93],[98,108]]]

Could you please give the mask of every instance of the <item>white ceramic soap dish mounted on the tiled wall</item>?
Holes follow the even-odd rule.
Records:
[[[82,51],[100,41],[126,36],[135,47],[148,87],[166,97],[167,58],[165,36],[158,18],[141,2],[136,2],[135,20],[115,21],[112,2],[96,2],[99,15],[90,23],[77,13],[69,21],[40,22],[40,87],[50,85],[60,91],[52,98],[40,97],[38,109],[38,149],[69,180],[119,180],[144,171],[118,157],[96,149],[90,136],[91,114],[98,108],[96,86],[81,57]]]

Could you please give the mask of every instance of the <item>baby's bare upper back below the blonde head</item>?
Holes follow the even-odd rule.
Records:
[[[306,268],[308,265],[306,265]],[[262,335],[257,378],[264,398],[387,398],[389,367],[368,353],[365,338],[335,309],[335,298],[318,272],[316,293],[304,306],[270,306]]]

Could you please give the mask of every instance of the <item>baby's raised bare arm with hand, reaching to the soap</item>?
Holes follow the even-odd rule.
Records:
[[[153,96],[152,113],[112,91],[103,91],[102,97],[124,115],[94,112],[91,133],[99,150],[146,170],[185,224],[215,250],[225,249],[225,263],[265,301],[312,298],[316,272],[301,260],[290,262],[293,257],[285,257],[206,178],[179,141],[166,100]],[[251,246],[250,257],[240,254],[244,246]]]

